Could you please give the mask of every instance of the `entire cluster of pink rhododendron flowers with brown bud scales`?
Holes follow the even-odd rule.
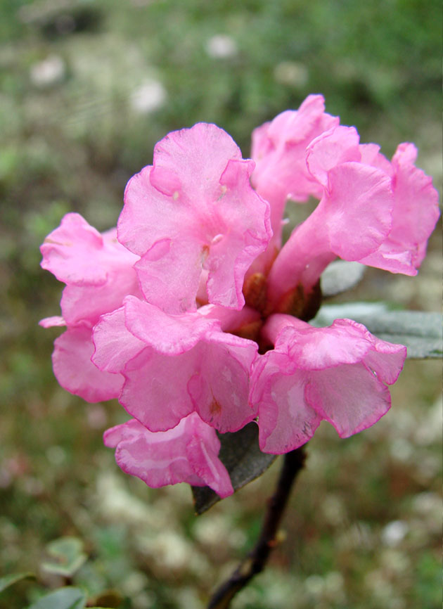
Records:
[[[336,257],[416,274],[437,192],[404,143],[392,161],[319,95],[252,134],[252,160],[214,124],[172,132],[131,178],[117,229],[67,214],[41,246],[65,283],[53,368],[88,402],[134,418],[105,432],[120,467],[152,487],[233,492],[217,432],[255,421],[259,446],[300,447],[319,423],[341,437],[390,408],[406,347],[338,319],[314,328]],[[319,199],[282,245],[285,205]]]

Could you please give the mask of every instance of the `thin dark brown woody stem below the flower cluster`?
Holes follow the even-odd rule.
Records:
[[[267,513],[257,544],[238,565],[231,577],[214,592],[209,605],[207,605],[207,609],[229,608],[237,592],[266,566],[269,554],[277,543],[276,534],[278,526],[285,511],[285,506],[288,503],[293,482],[304,466],[305,457],[304,447],[285,454],[276,492],[268,500]]]

